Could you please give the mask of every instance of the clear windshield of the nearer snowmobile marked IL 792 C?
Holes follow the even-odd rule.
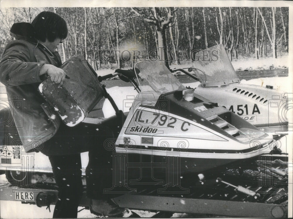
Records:
[[[157,94],[162,94],[185,89],[162,61],[138,62],[134,69],[139,69],[136,70],[136,75],[142,92],[155,91]]]

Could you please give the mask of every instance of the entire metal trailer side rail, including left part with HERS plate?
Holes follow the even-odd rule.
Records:
[[[39,207],[47,206],[57,201],[57,190],[13,189],[1,187],[0,200],[21,201],[27,204],[36,204]],[[42,198],[38,198],[44,194]],[[42,199],[42,200],[40,200]],[[130,209],[151,210],[172,213],[209,214],[228,217],[286,217],[287,206],[272,203],[253,203],[240,201],[224,201],[201,198],[179,198],[168,196],[150,196],[139,194],[125,194],[112,199],[118,206]],[[89,207],[90,199],[84,193],[80,206]]]

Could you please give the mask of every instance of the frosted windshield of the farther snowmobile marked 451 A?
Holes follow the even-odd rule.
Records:
[[[222,44],[197,52],[192,70],[204,87],[240,82]]]

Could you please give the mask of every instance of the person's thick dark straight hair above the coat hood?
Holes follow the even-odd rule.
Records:
[[[50,11],[43,11],[39,13],[32,22],[35,28],[36,38],[42,42],[46,41],[53,42],[58,37],[65,39],[67,37],[67,24],[66,21]]]

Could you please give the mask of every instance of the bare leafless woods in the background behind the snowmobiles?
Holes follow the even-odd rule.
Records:
[[[62,61],[87,47],[94,69],[127,65],[119,52],[111,62],[99,61],[96,50],[155,50],[167,66],[180,64],[184,52],[220,43],[231,60],[288,54],[287,7],[5,8],[0,10],[1,54],[13,40],[12,24],[31,22],[41,11],[53,11],[67,22],[68,37],[58,47]]]

